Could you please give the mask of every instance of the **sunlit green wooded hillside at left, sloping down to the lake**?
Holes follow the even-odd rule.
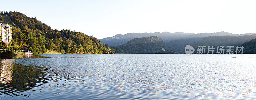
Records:
[[[46,50],[82,54],[114,53],[107,44],[101,43],[96,37],[69,29],[52,29],[36,18],[16,11],[2,11],[1,15],[9,16],[15,24],[12,49],[22,49],[25,45],[35,54],[44,54]]]

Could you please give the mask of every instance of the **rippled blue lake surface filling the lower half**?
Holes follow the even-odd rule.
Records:
[[[253,54],[41,56],[45,57],[16,57],[22,59],[0,62],[0,98],[256,98],[256,55]]]

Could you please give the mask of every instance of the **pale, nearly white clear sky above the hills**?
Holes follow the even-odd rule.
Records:
[[[0,11],[98,39],[144,32],[256,33],[254,0],[5,0]]]

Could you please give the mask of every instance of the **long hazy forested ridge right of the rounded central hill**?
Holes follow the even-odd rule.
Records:
[[[256,35],[244,36],[210,36],[198,38],[183,38],[172,40],[167,44],[171,47],[174,53],[185,53],[186,45],[191,45],[195,49],[197,46],[241,46],[244,42],[256,38]],[[206,49],[207,51],[207,49]]]

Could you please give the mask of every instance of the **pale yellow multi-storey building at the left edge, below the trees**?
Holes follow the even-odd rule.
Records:
[[[3,46],[12,46],[12,27],[9,24],[0,23],[1,43]]]

